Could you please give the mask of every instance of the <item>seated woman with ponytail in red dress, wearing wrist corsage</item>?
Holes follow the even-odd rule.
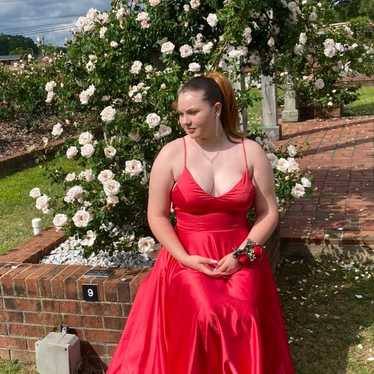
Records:
[[[162,148],[149,183],[148,222],[160,254],[107,373],[294,373],[261,247],[278,222],[271,165],[238,132],[234,93],[222,74],[187,82],[176,106],[187,135]]]

